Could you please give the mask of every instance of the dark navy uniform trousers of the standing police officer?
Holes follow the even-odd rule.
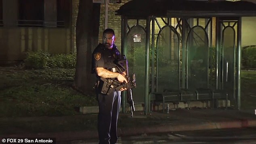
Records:
[[[115,144],[118,140],[117,123],[121,104],[121,91],[97,94],[99,104],[99,144]]]

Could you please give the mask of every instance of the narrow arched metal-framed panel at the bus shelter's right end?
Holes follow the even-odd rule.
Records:
[[[220,47],[220,89],[229,95],[231,104],[237,105],[236,94],[236,27],[237,21],[221,21],[222,43]]]

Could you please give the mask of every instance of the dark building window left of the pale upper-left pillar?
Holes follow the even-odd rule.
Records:
[[[19,0],[18,25],[42,27],[44,25],[44,0]]]

